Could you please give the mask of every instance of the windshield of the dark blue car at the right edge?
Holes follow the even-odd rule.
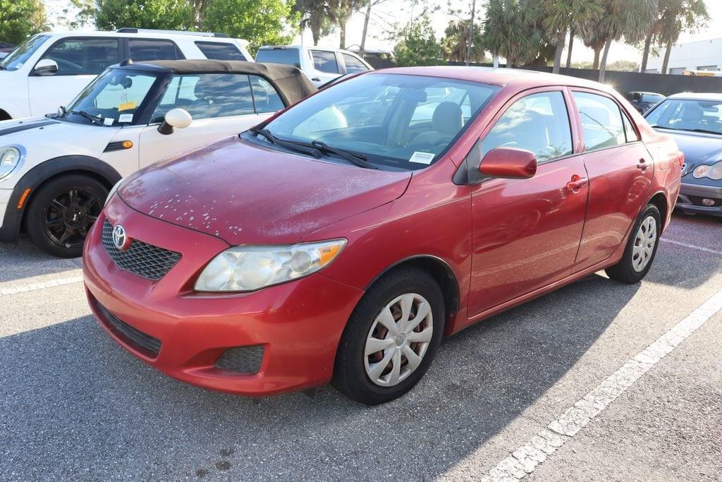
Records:
[[[667,99],[648,113],[653,127],[722,134],[722,100]]]

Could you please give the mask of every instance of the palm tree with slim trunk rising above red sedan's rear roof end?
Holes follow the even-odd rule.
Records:
[[[599,63],[599,82],[604,82],[606,59],[612,42],[622,37],[635,43],[647,35],[654,22],[656,0],[599,0],[605,5],[605,12],[598,24],[598,33],[604,37],[604,52]]]

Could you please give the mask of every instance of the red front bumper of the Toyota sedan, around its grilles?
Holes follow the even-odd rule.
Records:
[[[105,213],[113,224],[122,221],[129,236],[180,252],[181,261],[157,282],[119,270],[100,242]],[[135,212],[117,196],[105,213],[85,244],[84,281],[95,317],[123,348],[175,379],[239,395],[329,382],[336,348],[362,291],[316,273],[254,293],[194,293],[199,270],[227,244]],[[157,340],[157,354],[118,330],[118,319],[139,336]],[[219,358],[238,347],[262,347],[258,373],[218,368]]]

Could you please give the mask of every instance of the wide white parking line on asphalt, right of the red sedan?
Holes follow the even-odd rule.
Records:
[[[529,442],[497,463],[492,470],[484,474],[482,480],[518,481],[533,473],[536,467],[547,460],[549,455],[552,455],[575,436],[592,418],[604,411],[610,403],[635,384],[658,361],[671,353],[679,343],[686,340],[720,310],[722,310],[722,291],[718,291],[654,343],[627,361],[622,368],[584,395],[559,418],[532,436]],[[473,464],[471,459],[474,458],[476,457],[472,456],[467,459],[470,465]],[[458,468],[459,465],[456,465],[454,469]],[[466,469],[464,473],[473,473],[473,470],[469,470],[472,469],[471,467]]]

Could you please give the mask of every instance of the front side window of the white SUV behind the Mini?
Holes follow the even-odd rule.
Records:
[[[48,48],[43,59],[58,64],[56,75],[97,75],[117,64],[117,38],[66,38]]]

